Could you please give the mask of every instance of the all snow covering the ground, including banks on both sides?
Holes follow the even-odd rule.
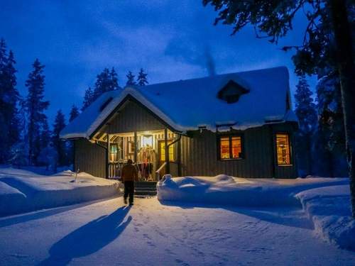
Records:
[[[165,178],[132,208],[73,179],[0,168],[2,214],[41,209],[0,218],[0,265],[355,265],[348,179]]]

